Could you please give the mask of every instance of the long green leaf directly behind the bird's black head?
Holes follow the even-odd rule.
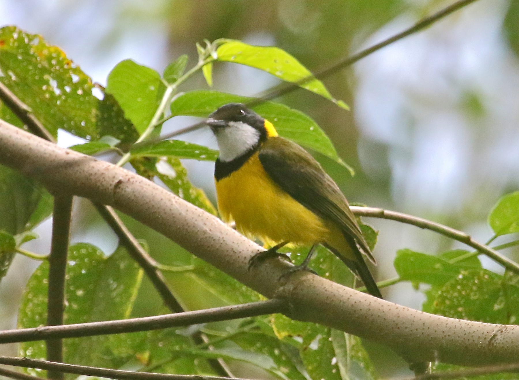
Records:
[[[171,113],[175,116],[185,115],[206,118],[209,113],[224,104],[233,102],[247,104],[253,99],[217,91],[191,91],[173,100],[171,103]],[[326,136],[315,121],[303,112],[272,101],[266,101],[254,106],[253,109],[274,124],[281,136],[344,164],[337,155],[330,138]]]

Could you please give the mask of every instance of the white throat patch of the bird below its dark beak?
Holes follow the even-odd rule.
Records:
[[[231,121],[214,131],[220,160],[229,162],[253,148],[260,140],[260,132],[247,123]]]

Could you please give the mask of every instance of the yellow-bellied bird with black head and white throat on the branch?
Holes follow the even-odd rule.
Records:
[[[279,255],[286,245],[325,246],[382,298],[364,256],[375,259],[348,201],[304,148],[280,137],[274,125],[241,103],[229,103],[206,119],[220,151],[214,167],[218,211],[224,222],[271,248],[251,260]]]

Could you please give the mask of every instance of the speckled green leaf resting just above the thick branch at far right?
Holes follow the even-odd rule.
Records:
[[[462,271],[436,291],[431,312],[485,323],[517,324],[517,276],[510,280],[484,269]]]

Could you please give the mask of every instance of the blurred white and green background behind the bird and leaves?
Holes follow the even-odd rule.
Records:
[[[0,25],[14,24],[43,35],[104,85],[108,72],[127,58],[158,71],[185,53],[193,63],[197,59],[195,43],[205,38],[278,46],[318,71],[451,3],[0,0]],[[519,1],[480,0],[323,79],[334,97],[351,106],[350,111],[302,90],[277,101],[315,119],[334,141],[339,155],[356,170],[356,176],[350,177],[323,158],[325,168],[351,202],[426,217],[486,241],[492,236],[486,223],[490,208],[502,194],[519,187],[517,54]],[[265,72],[231,65],[215,66],[216,90],[255,95],[278,83]],[[201,75],[186,84],[191,89],[203,86]],[[190,122],[189,118],[175,118],[164,130]],[[185,138],[215,147],[209,130]],[[61,145],[74,143],[65,133],[60,135]],[[192,181],[214,200],[213,164],[185,165]],[[104,252],[113,252],[115,238],[95,212],[85,202],[76,202],[76,207],[86,212],[74,221],[72,241],[91,242]],[[369,223],[380,230],[375,250],[379,279],[394,275],[392,261],[403,247],[429,254],[462,247],[413,226],[381,220]],[[48,253],[49,221],[38,229],[44,239],[29,243],[30,249]],[[149,241],[161,244],[157,238]],[[506,241],[498,239],[497,243]],[[519,258],[517,249],[505,253]],[[484,257],[482,261],[486,268],[500,270]],[[17,257],[2,282],[1,329],[15,325],[21,291],[36,264]],[[424,300],[409,284],[393,286],[386,295],[417,309]],[[145,297],[141,301],[137,315],[158,307],[147,304]],[[10,348],[0,349],[6,353]]]

